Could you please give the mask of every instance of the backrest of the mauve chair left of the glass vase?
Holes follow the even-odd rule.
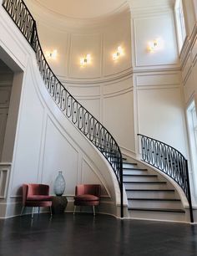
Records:
[[[23,184],[23,205],[25,204],[28,196],[44,195],[48,196],[49,186],[45,184]]]

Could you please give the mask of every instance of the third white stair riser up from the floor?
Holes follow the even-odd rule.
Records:
[[[127,197],[132,197],[132,198],[178,198],[175,192],[143,192],[143,191],[127,191]]]

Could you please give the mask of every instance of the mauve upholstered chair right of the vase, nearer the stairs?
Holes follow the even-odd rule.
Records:
[[[95,206],[100,203],[101,186],[99,184],[80,184],[75,187],[74,212],[77,206],[92,206],[95,216]]]

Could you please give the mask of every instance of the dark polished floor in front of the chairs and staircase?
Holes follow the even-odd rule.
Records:
[[[1,256],[196,256],[197,225],[71,213],[0,220]]]

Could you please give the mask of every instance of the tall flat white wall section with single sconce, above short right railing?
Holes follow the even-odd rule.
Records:
[[[167,3],[131,3],[135,131],[164,141],[187,157],[174,12]],[[156,38],[161,41],[159,49],[150,52],[149,41]]]

